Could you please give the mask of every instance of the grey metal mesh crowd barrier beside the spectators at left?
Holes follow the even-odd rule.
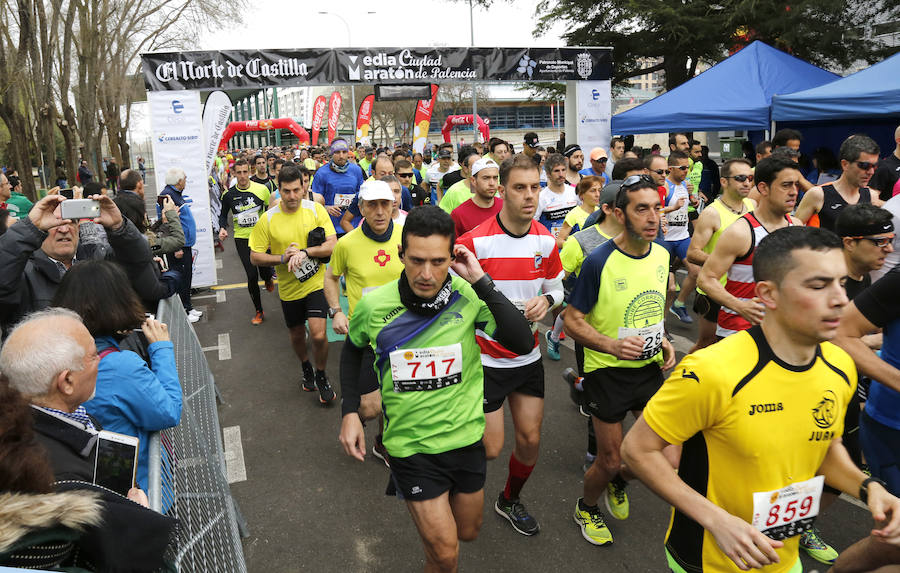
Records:
[[[246,525],[225,477],[215,380],[178,296],[160,301],[156,318],[169,326],[183,406],[178,426],[150,439],[150,507],[179,520],[177,571],[244,573]]]

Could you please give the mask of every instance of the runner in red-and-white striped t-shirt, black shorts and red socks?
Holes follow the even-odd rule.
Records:
[[[494,510],[523,535],[540,531],[519,500],[537,463],[544,418],[544,365],[534,323],[563,299],[564,272],[556,239],[533,219],[540,193],[541,175],[534,161],[521,154],[506,159],[500,166],[502,209],[457,241],[475,254],[497,289],[524,313],[534,333],[532,351],[519,356],[486,333],[475,332],[484,365],[487,458],[496,458],[503,448],[503,402],[507,399],[516,436],[506,487]]]

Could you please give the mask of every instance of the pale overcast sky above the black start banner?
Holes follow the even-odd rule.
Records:
[[[562,46],[562,26],[535,39],[534,7],[538,0],[495,0],[485,10],[475,7],[475,45]],[[389,0],[387,2],[309,2],[253,0],[252,13],[240,24],[202,34],[194,49],[334,48],[468,46],[469,4],[447,0]],[[321,8],[311,8],[321,6]],[[379,7],[381,6],[381,7]],[[334,15],[339,14],[350,28]],[[375,11],[368,14],[368,11]],[[350,41],[348,41],[350,40]]]

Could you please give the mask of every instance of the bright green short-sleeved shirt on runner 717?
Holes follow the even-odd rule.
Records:
[[[375,351],[384,446],[393,457],[447,452],[484,434],[475,329],[493,334],[496,323],[469,283],[451,280],[450,302],[436,316],[408,311],[394,280],[362,297],[350,319],[350,341]]]

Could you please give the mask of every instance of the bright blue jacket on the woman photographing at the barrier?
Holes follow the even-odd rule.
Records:
[[[169,341],[154,342],[147,351],[152,369],[130,350],[119,350],[111,336],[94,339],[97,352],[114,348],[100,359],[97,391],[84,403],[104,430],[140,440],[137,483],[147,491],[150,433],[177,426],[181,420],[181,383]]]

